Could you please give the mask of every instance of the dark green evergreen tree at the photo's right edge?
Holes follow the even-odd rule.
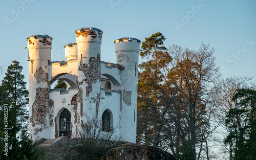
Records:
[[[225,143],[234,142],[234,159],[256,159],[256,90],[238,89],[233,96],[237,104],[226,116],[229,134]]]

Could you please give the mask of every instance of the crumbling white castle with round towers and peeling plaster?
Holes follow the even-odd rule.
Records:
[[[32,35],[29,51],[29,117],[32,140],[69,138],[94,118],[102,131],[116,130],[136,142],[138,54],[140,40],[114,41],[116,64],[100,59],[102,31],[76,30],[76,43],[65,45],[66,61],[51,61],[52,38]],[[51,88],[57,79],[68,88]]]

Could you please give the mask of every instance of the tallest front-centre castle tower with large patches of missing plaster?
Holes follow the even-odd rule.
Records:
[[[100,103],[100,44],[97,28],[76,30],[78,57],[78,114],[81,122],[98,117]]]

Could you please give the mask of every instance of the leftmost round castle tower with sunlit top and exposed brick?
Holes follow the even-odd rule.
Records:
[[[49,86],[48,63],[51,62],[52,38],[32,35],[27,38],[29,51],[29,117],[30,135],[35,140],[48,138]]]

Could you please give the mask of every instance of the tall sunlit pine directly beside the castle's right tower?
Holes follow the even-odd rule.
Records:
[[[163,45],[165,37],[155,33],[142,42],[140,56],[148,61],[139,65],[138,74],[138,142],[158,147],[163,139],[160,138],[163,123],[159,117],[159,85],[161,70],[172,58]],[[159,119],[160,118],[160,119]]]

